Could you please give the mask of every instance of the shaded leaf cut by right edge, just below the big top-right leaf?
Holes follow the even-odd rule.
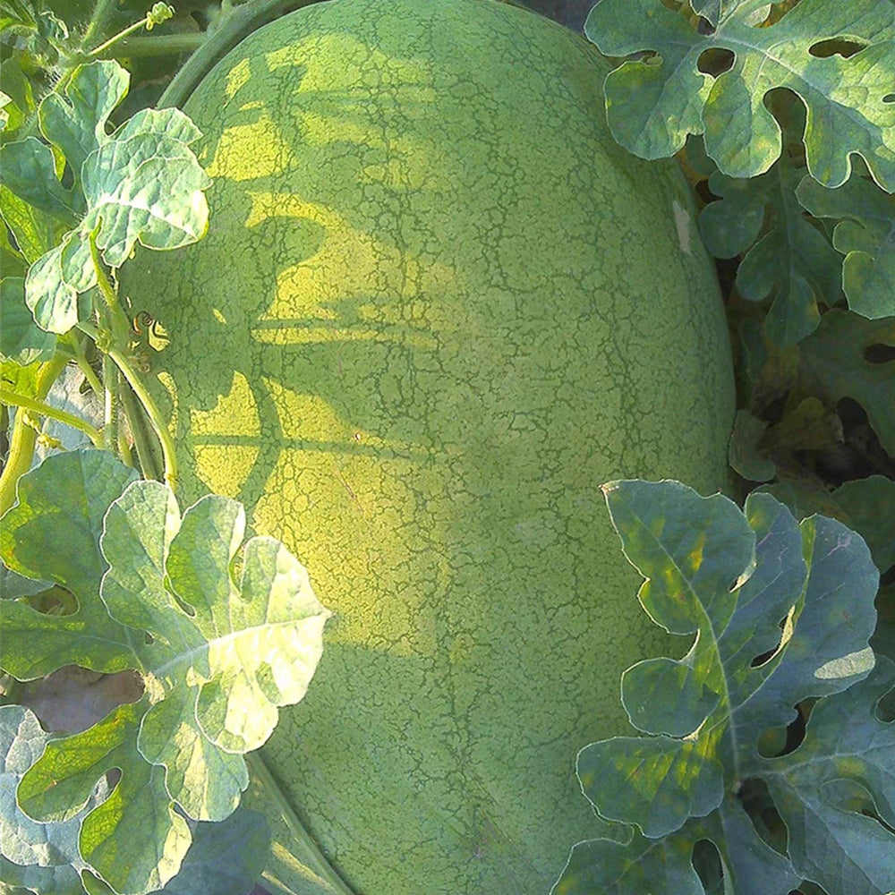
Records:
[[[833,247],[845,255],[848,307],[871,320],[895,316],[895,196],[858,175],[837,190],[805,177],[796,195],[814,217],[839,221]]]

